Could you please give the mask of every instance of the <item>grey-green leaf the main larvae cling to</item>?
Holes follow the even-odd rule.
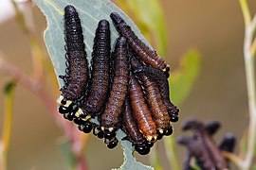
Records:
[[[137,26],[126,16],[118,7],[116,7],[109,0],[34,0],[37,6],[46,15],[47,28],[45,31],[45,42],[49,56],[54,66],[56,77],[58,78],[59,86],[62,87],[64,82],[60,75],[64,75],[65,70],[65,51],[64,51],[64,7],[72,5],[77,8],[81,18],[84,43],[86,45],[86,52],[88,60],[91,59],[91,52],[93,47],[93,40],[95,30],[98,23],[102,19],[108,20],[112,23],[109,15],[111,12],[119,12],[120,16],[126,21],[126,23],[132,27],[137,34],[137,37],[150,46],[146,42],[145,38],[141,35]],[[110,25],[112,46],[119,34],[113,25]],[[151,47],[151,46],[150,46]],[[152,47],[151,47],[152,48]],[[124,150],[125,161],[120,167],[121,169],[152,169],[148,166],[142,165],[137,162],[132,153],[134,147],[129,142],[121,141],[124,133],[118,130],[117,137]]]

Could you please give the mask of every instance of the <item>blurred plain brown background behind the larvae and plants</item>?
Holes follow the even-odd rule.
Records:
[[[8,3],[8,0],[6,0]],[[32,60],[27,37],[18,26],[14,11],[1,0],[0,50],[6,59],[23,70],[32,72]],[[201,56],[201,71],[189,97],[178,106],[180,120],[174,124],[174,136],[182,136],[181,125],[188,118],[202,121],[217,120],[222,128],[216,141],[227,132],[241,139],[247,128],[247,87],[243,58],[244,20],[238,1],[177,1],[161,0],[168,32],[167,62],[174,71],[181,56],[190,48],[197,49]],[[248,1],[251,12],[256,12],[256,1]],[[6,10],[4,10],[6,9]],[[13,12],[9,12],[9,11]],[[36,36],[44,46],[43,33],[46,18],[33,5]],[[7,17],[9,16],[9,17]],[[154,25],[154,24],[153,24]],[[46,53],[46,48],[44,49]],[[172,72],[171,72],[172,74]],[[172,75],[171,75],[172,78]],[[11,78],[0,75],[0,89],[4,89]],[[52,93],[57,98],[59,92]],[[45,105],[26,88],[17,86],[13,128],[9,146],[9,169],[65,169],[66,160],[60,143],[63,131],[51,117]],[[0,133],[4,116],[4,94],[0,92]],[[163,150],[162,141],[158,144]],[[176,148],[180,162],[185,148]],[[84,152],[90,169],[111,169],[122,163],[122,152],[118,146],[108,150],[101,140],[90,135]],[[149,163],[147,156],[137,156]],[[160,157],[161,158],[161,157]],[[165,158],[163,158],[165,159]],[[168,169],[168,165],[164,165]],[[235,168],[234,168],[235,169]]]

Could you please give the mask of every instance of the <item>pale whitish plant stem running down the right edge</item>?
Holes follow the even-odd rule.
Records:
[[[245,42],[244,42],[244,57],[247,76],[247,98],[249,110],[249,125],[247,138],[247,153],[245,160],[238,163],[241,169],[248,170],[251,166],[256,143],[256,93],[255,93],[255,65],[254,65],[254,45],[253,36],[256,28],[256,16],[251,21],[247,1],[240,0],[240,6],[245,19]]]

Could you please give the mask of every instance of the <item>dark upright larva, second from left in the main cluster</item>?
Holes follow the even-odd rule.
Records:
[[[104,106],[110,84],[110,44],[109,23],[101,20],[94,39],[88,93],[82,102],[82,115],[79,116],[90,117]]]

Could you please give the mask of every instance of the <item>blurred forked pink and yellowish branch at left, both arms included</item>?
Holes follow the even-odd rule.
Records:
[[[74,159],[76,161],[75,168],[86,169],[87,165],[82,153],[85,145],[87,144],[86,142],[88,135],[81,133],[71,122],[63,119],[63,117],[58,113],[56,109],[55,100],[52,99],[52,96],[50,96],[49,93],[46,92],[46,89],[43,87],[43,84],[46,82],[46,77],[49,78],[51,82],[50,87],[54,87],[54,91],[57,89],[57,83],[56,79],[54,79],[55,76],[52,65],[44,55],[43,49],[36,38],[36,30],[31,12],[32,1],[27,0],[23,3],[17,4],[17,2],[11,0],[11,3],[16,12],[16,21],[24,31],[29,41],[29,47],[33,59],[34,75],[33,77],[25,75],[14,65],[3,59],[1,60],[2,64],[0,63],[0,72],[2,71],[8,73],[10,76],[17,79],[18,82],[25,86],[29,91],[32,91],[41,99],[57,125],[64,129],[65,137],[68,139],[72,155],[74,155]],[[20,10],[19,6],[24,6],[26,9],[22,11]]]

